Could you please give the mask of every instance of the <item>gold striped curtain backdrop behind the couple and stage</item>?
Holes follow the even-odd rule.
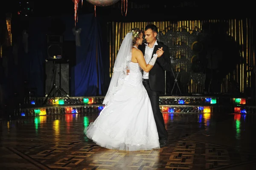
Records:
[[[230,20],[183,20],[183,21],[161,21],[161,22],[109,22],[108,23],[108,42],[109,42],[109,59],[110,68],[109,76],[113,74],[113,66],[115,63],[116,54],[119,47],[127,34],[128,30],[134,27],[144,30],[148,24],[155,24],[158,27],[158,31],[163,35],[169,30],[172,32],[181,32],[186,30],[190,34],[193,31],[201,32],[204,23],[226,23],[229,28],[227,35],[234,38],[234,40],[241,45],[241,58],[240,63],[237,64],[236,70],[233,72],[233,77],[228,74],[221,83],[221,92],[227,93],[230,88],[230,78],[239,84],[239,90],[244,93],[247,87],[251,87],[254,84],[254,73],[248,71],[255,65],[254,58],[254,46],[253,46],[253,26],[250,19],[230,19]],[[175,52],[171,52],[173,54]],[[178,51],[176,52],[179,53]],[[175,55],[176,57],[178,55]],[[227,63],[228,64],[228,63]],[[175,71],[180,71],[179,66],[174,66]],[[185,69],[187,71],[187,69]],[[197,84],[193,79],[188,84],[189,93],[201,93],[203,92],[203,85]]]

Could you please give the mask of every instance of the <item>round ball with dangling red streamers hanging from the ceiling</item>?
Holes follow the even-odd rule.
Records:
[[[83,0],[72,0],[72,1],[74,3],[75,24],[76,24],[78,21],[78,5],[81,2],[81,6],[83,6]],[[86,0],[86,1],[94,5],[94,12],[96,16],[96,6],[111,6],[114,3],[117,3],[119,0]],[[125,16],[126,16],[128,0],[121,0],[121,1],[122,1],[121,11],[122,11],[122,14],[123,12],[125,12]]]

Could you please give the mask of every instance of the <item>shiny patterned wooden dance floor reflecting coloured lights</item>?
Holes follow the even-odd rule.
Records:
[[[0,170],[206,170],[256,158],[255,116],[164,114],[169,141],[160,150],[125,152],[83,134],[98,115],[51,115],[0,121]]]

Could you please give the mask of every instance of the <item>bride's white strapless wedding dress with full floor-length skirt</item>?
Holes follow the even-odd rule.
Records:
[[[129,69],[122,88],[84,133],[97,145],[108,149],[159,149],[157,127],[148,93],[142,84],[141,68],[138,63],[130,62]]]

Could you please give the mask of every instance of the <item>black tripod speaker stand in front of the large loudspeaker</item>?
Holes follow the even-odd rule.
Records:
[[[52,100],[53,103],[56,103],[56,92],[60,92],[62,93],[64,96],[62,96],[61,98],[67,97],[73,104],[76,104],[75,101],[73,101],[69,95],[67,94],[67,92],[65,92],[64,89],[62,89],[61,87],[58,87],[56,85],[56,60],[58,59],[53,59],[53,86],[52,89],[50,90],[49,94],[45,95],[46,99],[44,100],[43,104],[47,104],[48,99],[50,98]],[[53,91],[53,96],[51,95]]]

